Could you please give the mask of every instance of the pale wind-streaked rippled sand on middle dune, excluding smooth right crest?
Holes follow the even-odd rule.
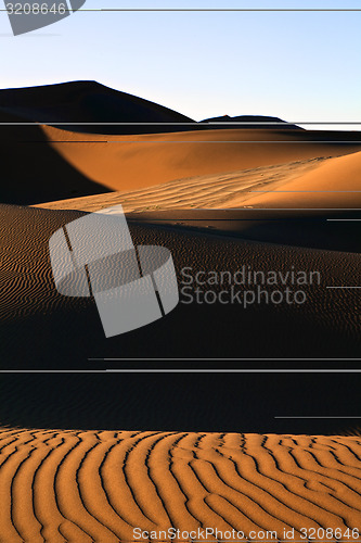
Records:
[[[240,200],[242,200],[243,206],[247,200],[255,197],[254,191],[275,190],[285,181],[291,181],[318,168],[327,160],[330,160],[328,156],[319,156],[236,172],[186,177],[138,190],[47,202],[38,204],[37,207],[81,210],[89,213],[119,203],[128,213],[156,210],[238,207]]]

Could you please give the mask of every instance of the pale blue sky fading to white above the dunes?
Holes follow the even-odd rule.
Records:
[[[359,0],[87,0],[83,9],[129,7],[360,9],[361,4]],[[248,114],[298,123],[361,122],[360,27],[361,11],[87,11],[14,37],[1,11],[0,87],[93,79],[197,121]]]

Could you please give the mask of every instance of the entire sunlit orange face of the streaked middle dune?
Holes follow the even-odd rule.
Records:
[[[121,203],[127,212],[236,207],[361,207],[361,153],[319,157],[221,175],[196,176],[133,191],[39,204],[94,212]]]

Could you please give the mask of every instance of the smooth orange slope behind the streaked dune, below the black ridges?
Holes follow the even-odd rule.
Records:
[[[43,130],[51,147],[74,168],[121,191],[185,177],[339,156],[359,151],[361,144],[359,132],[219,129],[112,138],[87,135],[85,140],[74,131],[50,126]]]

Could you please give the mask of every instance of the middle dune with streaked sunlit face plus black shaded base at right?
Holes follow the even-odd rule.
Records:
[[[121,204],[130,220],[243,239],[360,252],[361,153],[319,157],[134,191],[40,204],[94,212]]]

